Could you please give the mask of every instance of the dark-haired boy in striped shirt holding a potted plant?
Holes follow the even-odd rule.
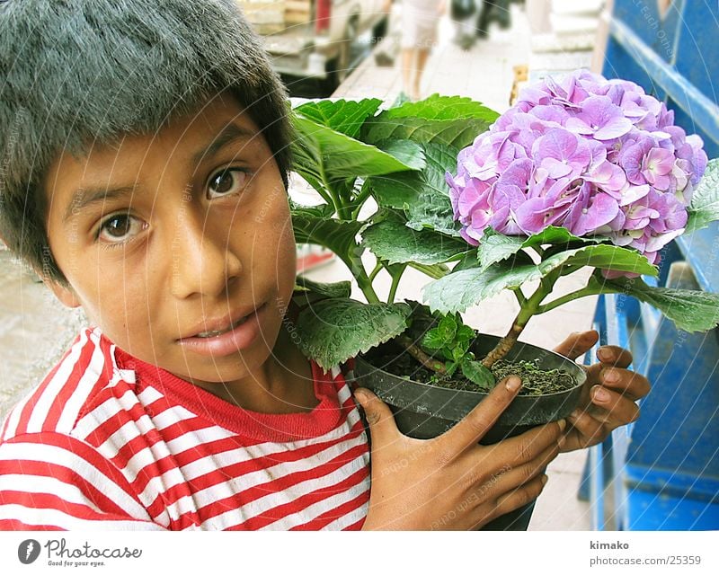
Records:
[[[431,441],[357,392],[370,495],[342,369],[283,329],[285,93],[231,0],[160,5],[0,4],[0,234],[95,326],[0,428],[0,528],[474,528],[635,417],[624,369],[594,416],[493,447],[516,378]]]

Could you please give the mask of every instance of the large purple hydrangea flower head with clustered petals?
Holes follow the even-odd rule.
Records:
[[[684,231],[707,157],[697,135],[632,82],[581,70],[547,78],[457,156],[447,173],[455,219],[476,245],[564,226],[635,248],[654,263]]]

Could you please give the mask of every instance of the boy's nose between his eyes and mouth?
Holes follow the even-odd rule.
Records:
[[[229,230],[206,227],[200,217],[182,217],[170,250],[173,296],[183,299],[195,294],[226,294],[227,284],[242,271],[229,239]]]

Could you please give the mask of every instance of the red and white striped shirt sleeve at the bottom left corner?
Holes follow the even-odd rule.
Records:
[[[0,444],[0,531],[165,530],[120,470],[77,438],[56,432]]]

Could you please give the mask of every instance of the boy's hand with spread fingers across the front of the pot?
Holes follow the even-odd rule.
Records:
[[[510,384],[514,385],[508,385]],[[404,436],[375,394],[355,392],[372,437],[372,489],[364,529],[475,529],[535,500],[559,453],[565,422],[492,446],[481,439],[519,392],[510,377],[465,419],[433,439]]]

